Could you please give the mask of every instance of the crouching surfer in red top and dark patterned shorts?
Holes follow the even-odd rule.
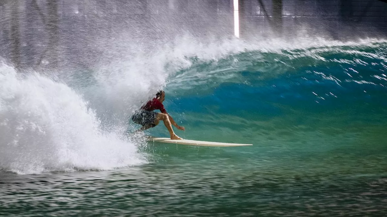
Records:
[[[171,139],[182,139],[178,137],[175,132],[173,132],[172,125],[182,131],[185,131],[185,128],[177,125],[175,120],[173,120],[172,116],[167,113],[163,105],[164,100],[165,92],[161,90],[156,93],[155,98],[149,100],[145,105],[141,107],[140,110],[134,113],[134,115],[132,116],[133,122],[142,125],[142,127],[136,132],[144,131],[151,127],[156,127],[156,125],[159,124],[159,121],[162,120],[171,135]],[[153,112],[153,110],[156,109],[159,109],[161,113]]]

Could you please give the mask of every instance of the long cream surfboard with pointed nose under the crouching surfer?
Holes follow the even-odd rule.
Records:
[[[238,144],[238,143],[227,143],[227,142],[209,142],[209,141],[197,141],[189,139],[170,139],[164,137],[148,137],[148,141],[180,144],[188,146],[211,146],[211,147],[236,147],[236,146],[252,146],[253,144]]]

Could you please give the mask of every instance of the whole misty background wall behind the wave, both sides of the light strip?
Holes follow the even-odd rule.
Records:
[[[241,37],[385,37],[381,0],[240,0]],[[176,36],[233,36],[233,0],[0,0],[0,58],[88,67]],[[130,43],[122,43],[123,41]],[[125,46],[123,46],[125,44]]]

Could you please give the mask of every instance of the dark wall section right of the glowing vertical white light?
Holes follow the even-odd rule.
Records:
[[[380,0],[248,0],[240,7],[244,34],[254,28],[280,28],[287,35],[307,28],[336,39],[387,33],[387,3]]]

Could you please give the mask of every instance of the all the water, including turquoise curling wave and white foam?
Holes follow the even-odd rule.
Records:
[[[3,65],[0,214],[386,215],[387,42],[233,43],[92,78]],[[253,146],[125,137],[161,87],[179,136]]]

